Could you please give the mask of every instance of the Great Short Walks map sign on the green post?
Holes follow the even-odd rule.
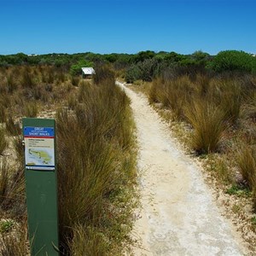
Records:
[[[55,134],[50,127],[25,127],[26,169],[55,169]]]

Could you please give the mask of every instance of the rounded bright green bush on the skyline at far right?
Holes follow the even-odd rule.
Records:
[[[216,72],[239,71],[251,73],[255,68],[255,57],[244,51],[224,50],[213,58],[210,67]]]

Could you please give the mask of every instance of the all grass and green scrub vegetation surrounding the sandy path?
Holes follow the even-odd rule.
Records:
[[[81,67],[94,67],[94,78],[82,79]],[[116,78],[146,93],[218,189],[247,201],[250,214],[230,211],[256,230],[255,56],[19,53],[0,55],[0,254],[29,251],[23,117],[56,120],[61,253],[129,251],[137,147],[130,102]]]

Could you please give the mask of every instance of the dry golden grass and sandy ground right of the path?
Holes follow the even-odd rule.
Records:
[[[171,79],[158,78],[148,84],[148,100],[157,102],[154,107],[160,108],[159,112],[170,122],[179,141],[189,143],[189,148],[187,145],[183,148],[189,154],[200,153],[198,160],[224,207],[224,214],[241,230],[254,255],[255,76],[229,73],[197,74],[193,79],[169,77]],[[180,86],[173,85],[181,81]],[[173,129],[183,125],[185,129]],[[192,148],[195,151],[191,151]]]

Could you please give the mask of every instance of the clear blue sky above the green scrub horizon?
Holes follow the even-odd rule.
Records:
[[[256,53],[256,0],[0,0],[0,55]]]

